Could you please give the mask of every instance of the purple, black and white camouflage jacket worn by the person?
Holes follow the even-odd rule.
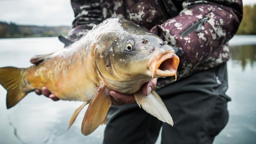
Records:
[[[178,47],[178,80],[228,61],[228,40],[242,20],[242,0],[71,0],[75,13],[68,39],[76,41],[109,17],[123,17]],[[156,89],[171,84],[159,79]]]

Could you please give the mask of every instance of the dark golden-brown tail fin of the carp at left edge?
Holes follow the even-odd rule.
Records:
[[[0,84],[7,90],[7,109],[15,106],[28,92],[23,81],[26,70],[24,68],[4,67],[0,68]]]

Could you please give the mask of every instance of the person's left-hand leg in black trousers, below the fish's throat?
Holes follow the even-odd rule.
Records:
[[[111,106],[104,144],[153,144],[162,122],[140,109],[137,103]]]

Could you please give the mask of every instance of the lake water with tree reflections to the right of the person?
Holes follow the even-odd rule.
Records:
[[[214,144],[254,144],[256,141],[256,36],[235,36],[228,61],[229,120]]]

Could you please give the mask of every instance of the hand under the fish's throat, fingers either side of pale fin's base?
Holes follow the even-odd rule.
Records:
[[[147,83],[143,84],[142,92],[145,96],[148,96],[150,92],[155,89],[156,82],[157,78],[154,78],[153,80],[150,80]],[[136,102],[133,94],[123,94],[114,90],[109,91],[109,94],[111,96],[112,103],[116,106]]]

